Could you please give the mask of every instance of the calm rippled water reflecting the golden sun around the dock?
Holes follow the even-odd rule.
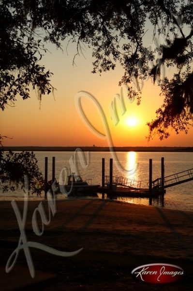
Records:
[[[83,179],[92,179],[92,183],[97,184],[102,183],[102,158],[105,158],[105,175],[109,175],[109,159],[112,158],[109,152],[90,152],[89,159],[87,153],[83,153],[81,156],[79,153],[74,155],[74,152],[35,152],[35,155],[43,173],[45,157],[48,157],[48,179],[52,178],[52,157],[54,156],[56,157],[55,176],[58,181],[59,178],[61,179],[65,176],[64,170],[63,174],[61,173],[65,167],[68,174],[70,174],[71,168],[72,172],[78,172]],[[149,159],[153,160],[153,179],[156,179],[161,177],[161,157],[164,157],[165,176],[193,168],[193,153],[119,152],[117,153],[117,161],[125,171],[119,165],[116,165],[116,160],[114,159],[113,175],[140,180],[142,182],[141,186],[147,188]],[[153,199],[152,205],[193,211],[192,189],[193,181],[167,188],[164,195],[164,206],[159,198]],[[1,193],[0,197],[1,199],[22,198],[24,193],[17,190],[14,193]],[[101,198],[101,194],[98,194],[98,197]],[[64,198],[64,195],[60,194],[59,198]],[[105,198],[108,199],[106,195]],[[31,199],[37,198],[36,196],[31,196]],[[118,197],[116,200],[149,205],[148,198]]]

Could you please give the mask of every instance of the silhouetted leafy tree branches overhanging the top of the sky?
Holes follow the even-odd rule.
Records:
[[[119,62],[119,84],[127,84],[138,103],[140,83],[149,76],[159,81],[163,105],[148,122],[149,137],[167,138],[170,127],[187,132],[193,115],[192,15],[193,0],[1,0],[0,108],[19,95],[29,98],[31,86],[39,98],[53,90],[51,73],[39,61],[46,42],[60,48],[68,39],[76,42],[77,54],[83,45],[92,49],[93,73]],[[154,48],[146,42],[147,30]]]

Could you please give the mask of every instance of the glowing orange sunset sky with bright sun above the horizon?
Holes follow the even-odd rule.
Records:
[[[193,129],[187,135],[176,135],[172,132],[167,140],[154,138],[148,142],[146,123],[155,117],[155,111],[163,102],[159,96],[160,88],[149,79],[144,82],[142,102],[130,103],[125,97],[125,113],[122,115],[118,106],[119,122],[115,125],[111,119],[109,106],[116,94],[120,93],[118,85],[123,74],[119,65],[114,71],[91,74],[92,58],[89,49],[85,57],[77,57],[76,66],[72,65],[74,45],[62,53],[49,45],[51,53],[43,59],[46,69],[54,73],[52,85],[57,88],[55,98],[50,94],[44,96],[41,108],[35,92],[31,98],[22,100],[18,97],[15,107],[7,107],[0,112],[2,135],[13,137],[5,139],[5,146],[108,146],[109,137],[101,138],[94,133],[88,123],[82,121],[79,110],[75,106],[75,96],[79,91],[87,91],[93,95],[103,108],[109,127],[113,146],[193,146]],[[82,98],[82,108],[86,117],[96,131],[105,132],[101,114],[96,104]],[[136,125],[128,125],[129,117],[135,118]]]

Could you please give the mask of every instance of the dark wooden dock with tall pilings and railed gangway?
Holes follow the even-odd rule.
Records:
[[[45,157],[45,185],[47,185],[47,157]],[[105,176],[105,160],[102,158],[102,186],[94,191],[107,194],[109,196],[125,197],[153,197],[163,196],[166,188],[186,183],[193,180],[193,168],[164,176],[164,158],[161,158],[161,178],[152,180],[152,159],[149,159],[149,179],[148,188],[141,187],[141,181],[126,178],[123,176],[113,176],[113,159],[110,159],[109,176]],[[55,157],[52,158],[52,182],[55,180]],[[45,198],[47,188],[45,187]],[[89,194],[91,194],[89,192]]]

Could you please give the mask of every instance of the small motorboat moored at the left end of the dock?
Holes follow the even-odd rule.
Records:
[[[91,184],[91,179],[83,180],[80,175],[72,173],[68,176],[67,185],[59,185],[60,190],[65,187],[66,192],[70,194],[93,194],[96,193],[100,187],[100,184]]]

